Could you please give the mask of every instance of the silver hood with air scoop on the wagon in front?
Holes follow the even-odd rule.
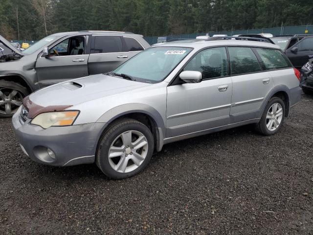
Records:
[[[41,89],[27,98],[27,105],[34,103],[41,107],[50,106],[52,109],[53,106],[69,107],[149,85],[151,84],[97,74]]]

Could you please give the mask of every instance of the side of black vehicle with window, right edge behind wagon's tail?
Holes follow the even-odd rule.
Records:
[[[291,49],[297,47],[297,52],[292,52]],[[292,65],[300,70],[309,59],[313,58],[313,37],[302,39],[293,47],[286,50],[286,55],[290,59]]]

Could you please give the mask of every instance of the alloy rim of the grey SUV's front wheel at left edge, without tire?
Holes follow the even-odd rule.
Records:
[[[22,105],[23,95],[17,90],[0,88],[0,114],[14,114]]]

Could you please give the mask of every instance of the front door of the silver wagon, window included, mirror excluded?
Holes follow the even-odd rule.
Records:
[[[232,81],[225,47],[200,51],[184,71],[200,71],[203,80],[167,87],[166,137],[229,124]]]

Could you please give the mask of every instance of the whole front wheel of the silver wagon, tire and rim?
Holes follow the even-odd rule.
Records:
[[[137,120],[123,118],[113,122],[102,135],[96,164],[107,177],[125,179],[142,171],[153,151],[154,138],[150,129]]]

